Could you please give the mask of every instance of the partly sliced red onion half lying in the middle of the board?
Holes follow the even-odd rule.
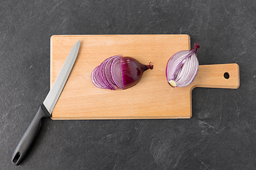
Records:
[[[128,89],[139,82],[146,69],[153,65],[144,65],[132,57],[115,55],[104,60],[92,71],[92,83],[101,89]]]

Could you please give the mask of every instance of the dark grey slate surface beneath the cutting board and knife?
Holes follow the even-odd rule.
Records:
[[[256,1],[1,1],[0,169],[256,169]],[[194,89],[188,120],[50,120],[18,141],[50,89],[50,36],[188,34],[239,89]],[[147,96],[145,96],[147,97]]]

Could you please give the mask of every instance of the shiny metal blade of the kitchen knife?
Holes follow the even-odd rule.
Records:
[[[43,101],[43,105],[46,106],[50,115],[53,112],[53,108],[58,101],[61,91],[63,91],[65,82],[68,79],[68,76],[73,67],[73,64],[75,63],[76,57],[78,56],[79,47],[80,47],[80,40],[76,42],[75,45],[70,50],[67,60],[65,60],[65,63],[63,64],[63,67],[60,70],[58,77],[55,79],[53,87],[50,89],[48,95],[46,96],[46,99]]]

